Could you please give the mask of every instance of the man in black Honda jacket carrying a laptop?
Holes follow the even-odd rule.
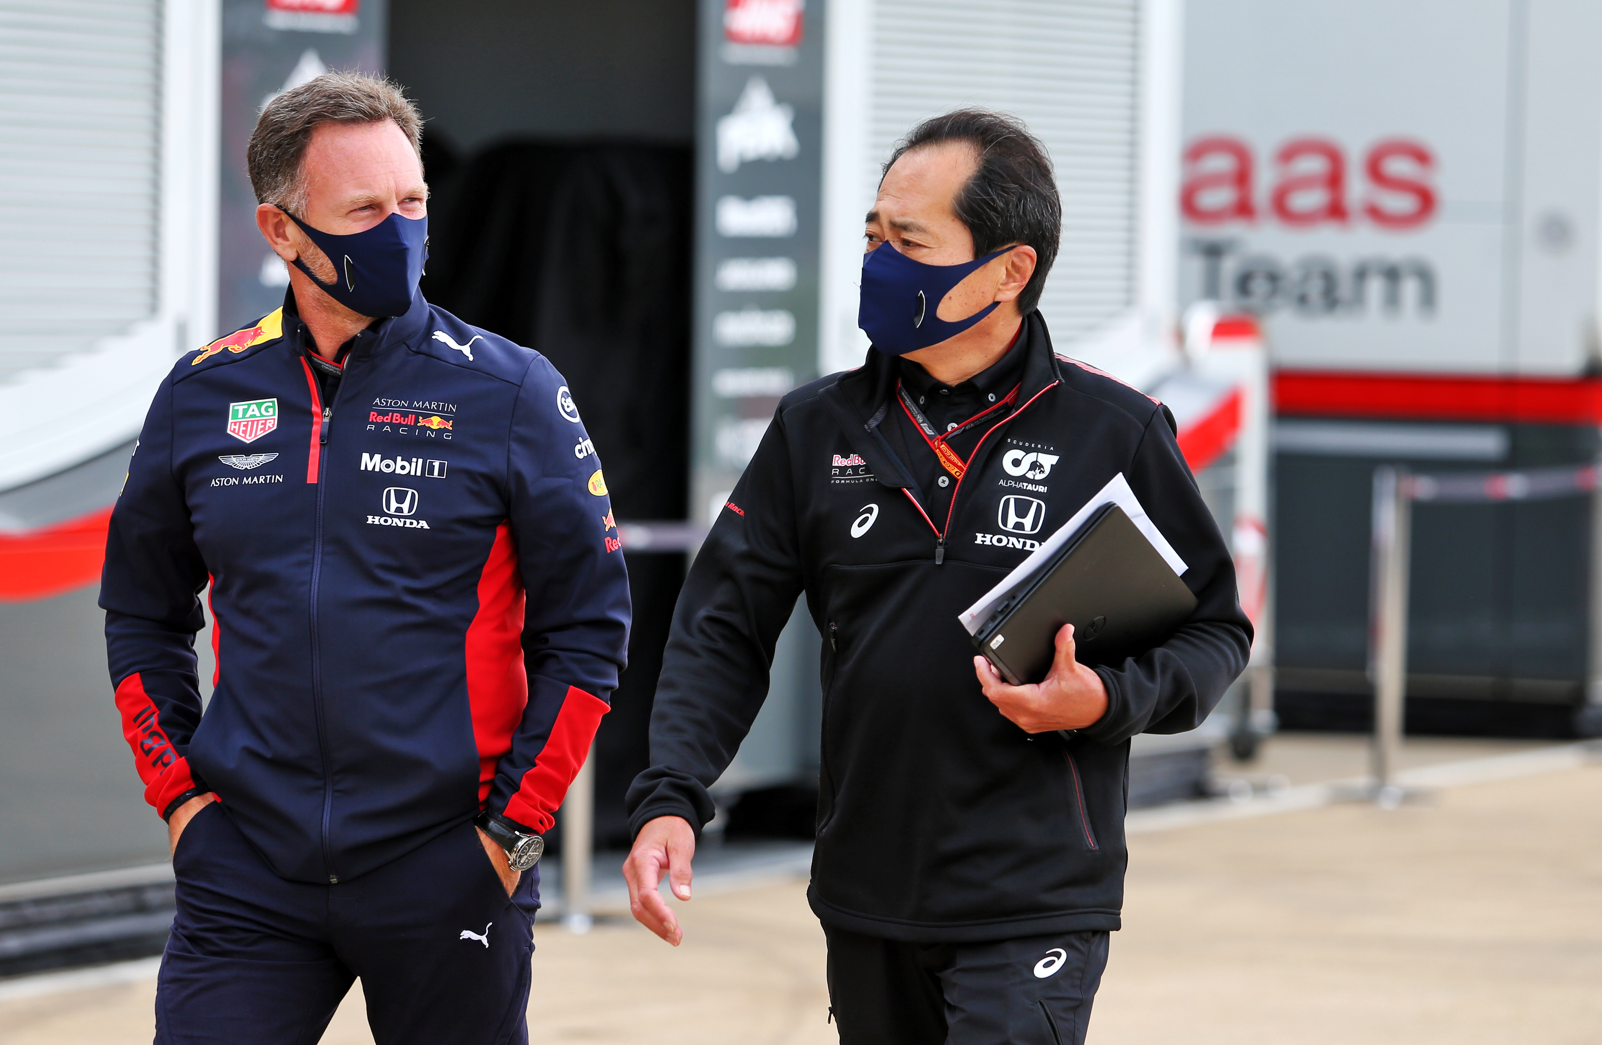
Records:
[[[982,110],[902,142],[867,216],[863,366],[783,398],[673,621],[630,789],[634,917],[681,930],[706,787],[799,594],[825,639],[812,911],[843,1042],[1081,1042],[1123,901],[1129,738],[1195,728],[1251,626],[1168,410],[1053,354],[1035,310],[1061,205],[1045,149]],[[1197,597],[1161,647],[1001,682],[958,615],[1115,475]],[[1065,731],[1065,733],[1059,733]]]

